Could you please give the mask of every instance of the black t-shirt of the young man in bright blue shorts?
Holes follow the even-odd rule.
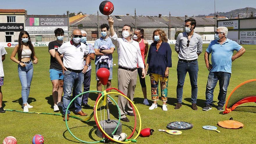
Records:
[[[58,51],[58,48],[61,47],[62,44],[59,44],[58,42],[52,41],[49,43],[48,45],[48,51],[50,51],[51,49],[55,49],[55,51]],[[63,58],[61,58],[61,60],[63,61]],[[50,61],[50,69],[56,69],[56,70],[62,70],[61,69],[61,65],[58,63],[58,61],[56,60],[56,58],[51,56],[51,61]]]

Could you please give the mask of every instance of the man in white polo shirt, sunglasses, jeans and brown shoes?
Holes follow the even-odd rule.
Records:
[[[79,29],[74,29],[72,31],[72,40],[70,42],[65,42],[56,51],[55,58],[62,67],[64,74],[64,85],[63,85],[63,114],[65,115],[67,106],[70,103],[70,96],[72,93],[72,88],[75,89],[75,95],[82,93],[82,84],[84,80],[84,73],[89,67],[90,54],[84,43],[80,42],[82,33]],[[63,63],[61,61],[60,55],[63,54]],[[86,57],[86,64],[83,65],[84,56]],[[74,87],[73,87],[74,86]],[[77,97],[74,101],[75,112],[78,115],[86,116],[82,109],[82,95]],[[68,110],[67,120],[69,120],[70,111]],[[63,118],[65,121],[65,116]]]

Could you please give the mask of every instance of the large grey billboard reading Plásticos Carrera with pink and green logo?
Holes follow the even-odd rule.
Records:
[[[68,31],[67,17],[28,17],[26,31],[29,34],[54,34],[54,30],[61,28]],[[52,32],[52,33],[49,33]]]

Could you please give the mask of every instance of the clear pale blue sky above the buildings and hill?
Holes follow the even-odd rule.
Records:
[[[62,15],[67,10],[82,11],[87,14],[97,14],[99,4],[103,0],[0,0],[1,9],[25,9],[28,15]],[[214,0],[110,0],[114,4],[113,15],[169,15],[192,16],[214,13]],[[255,0],[216,0],[216,11],[253,7]],[[99,12],[100,13],[100,12]]]

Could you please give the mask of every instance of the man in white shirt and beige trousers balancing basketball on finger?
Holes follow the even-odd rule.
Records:
[[[109,16],[108,16],[109,17]],[[114,20],[109,17],[110,38],[117,47],[118,54],[118,89],[121,90],[131,101],[134,97],[134,90],[137,82],[137,63],[142,69],[142,78],[145,78],[145,67],[141,56],[139,43],[131,39],[132,28],[124,25],[122,29],[123,38],[118,38],[114,31]],[[129,122],[126,114],[134,116],[132,108],[124,97],[118,96],[121,120]]]

